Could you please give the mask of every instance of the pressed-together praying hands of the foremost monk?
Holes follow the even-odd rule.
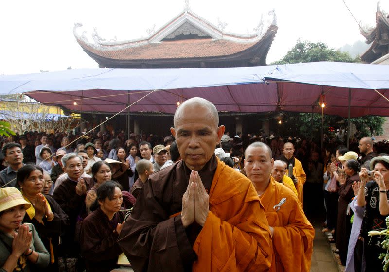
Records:
[[[182,225],[186,228],[193,222],[204,226],[209,212],[209,195],[197,171],[192,170],[189,184],[182,196]]]

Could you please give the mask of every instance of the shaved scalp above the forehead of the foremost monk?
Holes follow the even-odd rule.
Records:
[[[177,123],[182,118],[182,113],[187,107],[198,107],[199,111],[207,111],[207,116],[212,119],[215,127],[219,125],[219,114],[214,104],[201,97],[194,97],[183,102],[176,110],[174,114],[174,127],[177,127]]]

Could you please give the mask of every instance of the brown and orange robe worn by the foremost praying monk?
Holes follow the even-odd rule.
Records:
[[[213,156],[199,171],[202,180],[213,176],[207,221],[203,228],[193,224],[185,230],[177,213],[190,172],[179,161],[143,185],[118,240],[134,270],[156,271],[162,266],[183,271],[196,260],[193,271],[266,271],[271,237],[249,180]]]

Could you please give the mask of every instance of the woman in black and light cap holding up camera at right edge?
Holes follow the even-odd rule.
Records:
[[[361,168],[359,173],[365,190],[359,191],[357,204],[366,207],[359,240],[363,241],[366,268],[369,271],[382,271],[382,260],[378,256],[386,253],[381,247],[384,237],[368,237],[368,232],[386,228],[385,218],[389,215],[389,156],[371,159],[370,169],[374,170],[372,175],[368,174],[366,168]]]

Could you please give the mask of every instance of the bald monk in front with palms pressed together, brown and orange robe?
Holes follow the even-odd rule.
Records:
[[[118,239],[134,271],[267,271],[272,246],[250,180],[214,155],[225,127],[202,98],[182,103],[172,135],[182,160],[151,175]]]

